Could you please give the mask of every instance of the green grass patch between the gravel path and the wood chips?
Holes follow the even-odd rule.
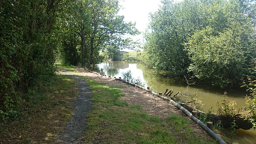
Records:
[[[87,117],[83,143],[213,143],[197,136],[186,119],[150,116],[140,105],[129,106],[119,100],[123,96],[120,87],[81,77],[93,90],[93,109]]]

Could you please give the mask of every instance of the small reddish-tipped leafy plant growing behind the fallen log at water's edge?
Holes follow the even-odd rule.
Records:
[[[235,100],[228,100],[227,98],[227,92],[224,92],[224,100],[221,100],[222,103],[219,104],[217,102],[218,106],[218,114],[232,117],[236,114],[236,101]]]

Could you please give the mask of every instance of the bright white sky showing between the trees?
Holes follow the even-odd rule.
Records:
[[[156,12],[161,4],[161,0],[120,0],[119,4],[123,6],[118,15],[124,16],[125,22],[136,22],[136,28],[141,32],[140,35],[132,37],[133,40],[140,39],[142,43],[143,32],[145,32],[149,23],[149,12]],[[124,51],[131,51],[124,49]]]

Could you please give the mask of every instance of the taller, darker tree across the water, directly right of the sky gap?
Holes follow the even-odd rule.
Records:
[[[183,43],[195,29],[203,28],[205,21],[205,1],[185,0],[174,3],[163,0],[162,6],[150,14],[150,24],[146,35],[143,62],[165,71],[170,77],[187,75],[190,60]]]

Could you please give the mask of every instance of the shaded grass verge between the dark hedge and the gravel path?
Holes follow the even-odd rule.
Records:
[[[49,84],[29,90],[20,119],[1,124],[0,143],[55,143],[63,125],[72,121],[76,96],[76,80],[69,76],[54,76]]]

